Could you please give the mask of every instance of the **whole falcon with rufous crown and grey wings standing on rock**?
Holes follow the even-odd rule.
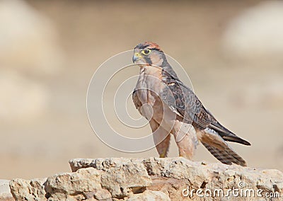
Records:
[[[226,141],[250,145],[215,119],[190,88],[185,86],[154,42],[134,47],[139,79],[132,99],[139,113],[149,120],[160,157],[168,154],[171,134],[179,156],[192,160],[201,142],[222,163],[246,166],[246,161]]]

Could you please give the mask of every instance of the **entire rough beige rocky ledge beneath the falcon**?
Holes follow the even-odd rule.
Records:
[[[9,181],[11,194],[0,200],[283,200],[283,173],[272,169],[183,158],[69,163],[71,173]]]

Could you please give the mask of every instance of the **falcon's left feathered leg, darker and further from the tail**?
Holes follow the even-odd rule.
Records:
[[[151,119],[149,121],[151,130],[154,136],[154,144],[156,144],[156,149],[158,151],[160,158],[165,158],[168,153],[168,148],[170,144],[170,132],[164,130],[155,120]]]

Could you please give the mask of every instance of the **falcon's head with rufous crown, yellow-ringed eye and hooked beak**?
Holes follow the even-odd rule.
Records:
[[[158,67],[161,67],[163,62],[167,62],[159,45],[147,41],[134,47],[132,61],[134,64],[150,64]]]

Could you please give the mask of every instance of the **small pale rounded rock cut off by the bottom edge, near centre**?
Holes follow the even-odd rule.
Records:
[[[170,201],[170,197],[166,195],[165,193],[159,192],[159,191],[152,191],[152,190],[146,190],[144,193],[139,193],[132,195],[129,197],[128,201],[136,201],[136,200],[141,200],[141,201],[147,201],[147,200],[156,200],[156,201]]]

